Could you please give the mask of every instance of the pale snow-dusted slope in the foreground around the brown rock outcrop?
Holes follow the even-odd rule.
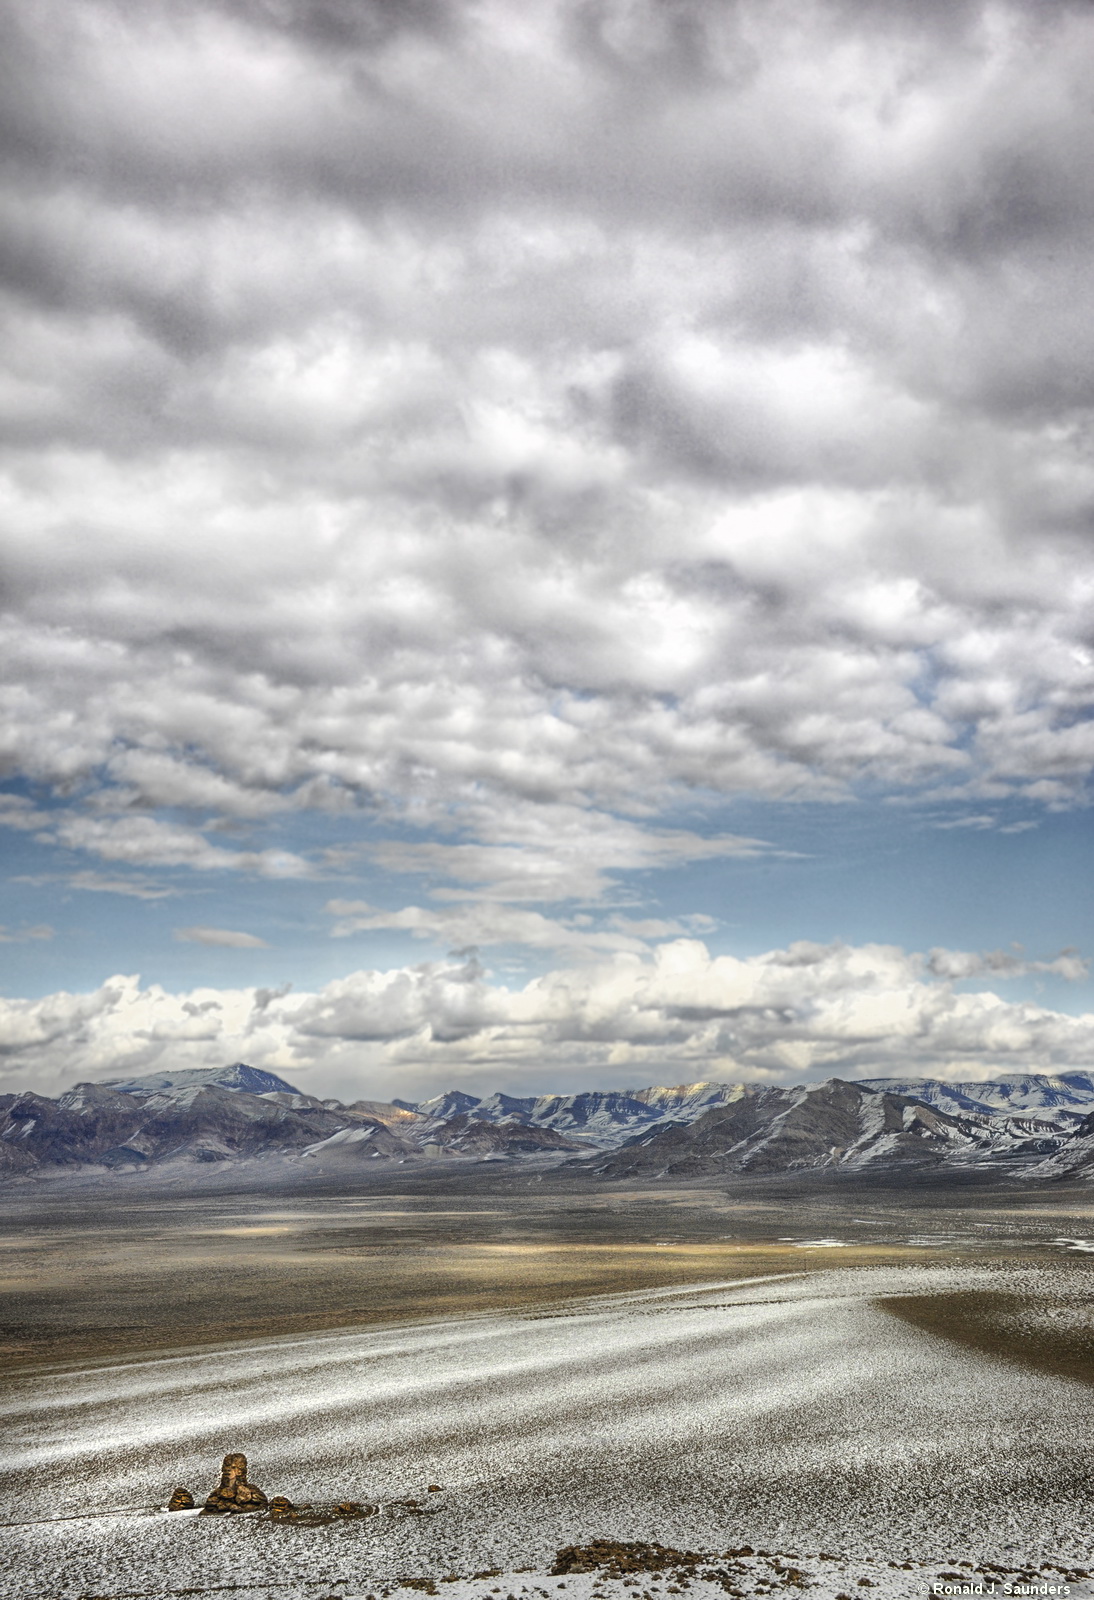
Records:
[[[862,1578],[926,1595],[960,1562],[1094,1566],[1094,1389],[870,1304],[1070,1283],[1065,1266],[787,1274],[27,1374],[0,1403],[0,1595],[291,1600],[456,1576],[451,1600],[590,1600],[621,1581],[545,1573],[593,1538],[785,1552],[734,1582],[797,1592],[793,1566],[817,1600]],[[229,1450],[269,1494],[422,1512],[299,1528],[155,1509],[176,1483],[208,1493]]]

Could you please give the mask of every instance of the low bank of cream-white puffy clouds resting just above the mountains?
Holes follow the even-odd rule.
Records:
[[[1060,958],[1030,965],[1078,976]],[[304,994],[171,994],[112,978],[94,994],[0,1002],[0,1054],[13,1086],[242,1058],[350,1098],[457,1083],[550,1091],[1089,1066],[1094,1016],[955,987],[980,973],[998,973],[998,958],[808,942],[736,958],[673,938],[520,987],[499,982],[473,954],[363,970]]]

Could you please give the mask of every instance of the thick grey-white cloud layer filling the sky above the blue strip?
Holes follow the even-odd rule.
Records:
[[[256,822],[1083,795],[1089,10],[3,29],[8,771]]]

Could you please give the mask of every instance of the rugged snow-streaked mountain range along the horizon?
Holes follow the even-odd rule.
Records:
[[[0,1094],[0,1174],[240,1160],[566,1163],[603,1181],[809,1170],[1094,1178],[1094,1075],[683,1083],[421,1102],[318,1099],[246,1062]]]

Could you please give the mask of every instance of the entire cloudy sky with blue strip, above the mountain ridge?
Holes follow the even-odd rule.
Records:
[[[1094,1066],[1084,0],[0,30],[0,1093]]]

